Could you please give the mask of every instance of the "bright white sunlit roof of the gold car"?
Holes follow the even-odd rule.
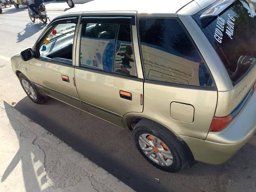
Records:
[[[99,11],[136,11],[138,13],[176,13],[193,0],[94,0],[66,11],[99,12]]]

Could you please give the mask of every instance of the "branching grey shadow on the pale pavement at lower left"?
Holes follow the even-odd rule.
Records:
[[[20,124],[17,123],[17,120],[13,118],[15,114],[12,114],[12,107],[4,102],[4,107],[6,114],[9,118],[10,124],[14,130],[21,130]],[[19,150],[13,157],[12,161],[4,171],[2,175],[1,182],[3,183],[15,167],[21,162],[22,166],[22,173],[23,173],[23,180],[25,184],[26,191],[38,191],[38,192],[47,192],[49,191],[48,185],[46,185],[46,179],[44,177],[44,166],[43,162],[40,161],[38,158],[40,156],[41,159],[44,159],[44,156],[40,154],[38,147],[35,145],[31,145],[31,141],[24,137],[20,137],[22,131],[15,131],[17,134],[17,138],[19,139]],[[22,132],[23,133],[23,132]],[[43,152],[42,152],[43,153]],[[39,164],[41,166],[37,167],[35,170],[35,164]],[[42,178],[40,181],[37,180],[36,174],[38,178]],[[12,174],[13,176],[13,174]],[[20,189],[16,189],[17,191]]]

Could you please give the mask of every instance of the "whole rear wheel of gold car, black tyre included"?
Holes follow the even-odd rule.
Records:
[[[146,141],[144,143],[145,135],[148,135],[146,136],[146,140],[149,140],[149,137],[153,140],[156,138],[156,145],[152,144],[153,140],[149,140],[149,143],[152,144],[151,146],[145,144],[148,142]],[[184,145],[171,131],[152,120],[141,119],[132,130],[132,138],[140,154],[158,169],[166,172],[179,172],[188,164],[188,157]],[[144,141],[142,142],[142,140]],[[159,143],[160,141],[157,142],[158,140],[161,143]],[[143,148],[141,145],[143,145]],[[153,148],[153,153],[150,148]],[[143,150],[147,150],[147,152]],[[152,154],[147,156],[146,153]],[[167,155],[164,156],[163,154]]]

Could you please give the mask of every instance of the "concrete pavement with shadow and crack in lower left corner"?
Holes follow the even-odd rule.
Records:
[[[133,191],[4,101],[0,114],[0,191]]]

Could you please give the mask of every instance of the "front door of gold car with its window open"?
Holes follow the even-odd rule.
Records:
[[[53,21],[35,47],[36,58],[29,61],[31,82],[44,94],[87,111],[76,92],[73,47],[76,46],[78,17]]]

